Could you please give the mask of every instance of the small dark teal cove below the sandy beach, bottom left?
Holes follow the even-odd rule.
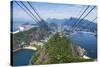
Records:
[[[34,54],[33,50],[21,49],[13,53],[13,66],[24,66],[29,64],[29,60]]]

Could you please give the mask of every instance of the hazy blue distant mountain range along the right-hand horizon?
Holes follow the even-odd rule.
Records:
[[[74,17],[71,17],[69,19],[56,19],[56,18],[48,18],[47,21],[49,24],[52,24],[52,25],[58,25],[58,24],[62,24],[63,26],[73,26],[76,21],[79,20],[78,18],[74,18]],[[81,20],[81,19],[80,19]],[[88,26],[87,26],[88,25]],[[85,28],[85,29],[97,29],[97,23],[95,22],[92,22],[92,21],[89,21],[89,20],[86,20],[86,19],[83,19],[78,27],[80,28]]]

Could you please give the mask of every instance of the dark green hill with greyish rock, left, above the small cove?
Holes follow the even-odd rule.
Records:
[[[19,48],[22,43],[24,43],[24,45],[29,45],[31,41],[40,41],[47,35],[48,33],[39,27],[34,27],[23,32],[12,34],[13,49]]]

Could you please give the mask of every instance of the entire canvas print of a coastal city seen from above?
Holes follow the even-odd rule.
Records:
[[[97,6],[10,4],[12,66],[97,61]]]

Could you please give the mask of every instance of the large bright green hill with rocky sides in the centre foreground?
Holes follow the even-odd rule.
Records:
[[[32,58],[32,64],[55,64],[92,61],[84,59],[85,50],[75,46],[69,38],[55,34]]]

